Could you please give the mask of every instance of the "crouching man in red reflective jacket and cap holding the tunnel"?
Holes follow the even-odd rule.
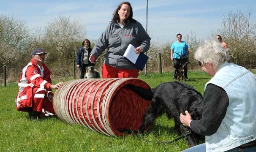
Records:
[[[30,119],[40,119],[42,116],[53,116],[52,89],[59,89],[63,82],[52,84],[51,74],[44,64],[43,49],[32,52],[32,59],[23,68],[19,79],[19,91],[16,96],[16,109],[28,112]]]

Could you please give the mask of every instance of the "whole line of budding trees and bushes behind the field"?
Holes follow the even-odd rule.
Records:
[[[0,67],[15,67],[13,72],[20,73],[22,68],[31,59],[31,52],[37,47],[45,49],[49,55],[46,64],[49,68],[58,69],[59,73],[67,75],[72,71],[66,70],[72,66],[76,58],[76,52],[82,46],[86,38],[86,27],[79,21],[71,21],[70,17],[59,16],[50,22],[44,29],[32,29],[27,27],[24,20],[16,19],[15,16],[0,14]],[[230,12],[223,16],[220,28],[213,31],[209,37],[215,38],[217,34],[222,36],[228,44],[233,62],[254,60],[256,57],[256,19],[252,12],[247,14],[242,11]],[[89,38],[90,39],[90,38]],[[196,34],[185,35],[182,38],[188,43],[190,61],[193,61],[193,53],[196,51],[201,39]],[[173,40],[176,41],[176,40]],[[161,40],[151,42],[147,55],[147,71],[157,72],[157,54],[161,53],[162,67],[172,68],[170,46],[173,41]],[[95,41],[91,41],[92,47]],[[101,55],[96,68],[101,69],[104,55]],[[0,68],[3,73],[3,68]],[[1,75],[0,75],[1,77]],[[19,76],[17,76],[19,79]]]

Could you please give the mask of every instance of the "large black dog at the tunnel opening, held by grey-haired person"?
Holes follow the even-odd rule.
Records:
[[[166,113],[169,119],[174,118],[174,130],[177,130],[179,135],[181,135],[180,125],[182,124],[180,123],[180,113],[185,115],[185,110],[187,110],[193,120],[201,119],[202,101],[203,97],[201,93],[188,84],[180,81],[162,83],[153,89],[151,105],[144,114],[144,123],[139,131],[144,133],[144,130],[159,115]],[[186,133],[190,128],[182,125],[182,129]],[[193,147],[198,144],[199,138],[200,136],[192,131],[187,136],[189,146]]]

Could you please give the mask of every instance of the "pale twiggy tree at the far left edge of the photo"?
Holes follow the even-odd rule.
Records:
[[[30,29],[14,16],[0,14],[0,67],[19,67],[30,45]],[[2,72],[3,68],[0,68]]]

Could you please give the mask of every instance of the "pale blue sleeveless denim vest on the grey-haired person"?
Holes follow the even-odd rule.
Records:
[[[206,151],[223,152],[255,140],[256,77],[253,73],[224,62],[207,84],[222,87],[229,97],[229,106],[217,132],[205,137]]]

